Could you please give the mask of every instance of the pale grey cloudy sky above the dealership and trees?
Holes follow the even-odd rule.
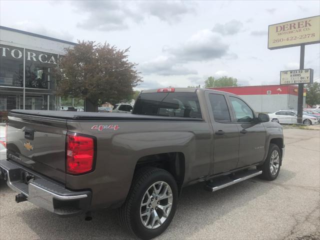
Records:
[[[137,89],[201,84],[233,76],[277,84],[299,68],[299,47],[267,49],[269,24],[320,14],[320,1],[0,1],[0,24],[69,41],[130,47]],[[305,47],[319,81],[320,44]]]

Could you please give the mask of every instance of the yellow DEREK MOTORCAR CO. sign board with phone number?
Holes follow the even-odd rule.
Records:
[[[320,16],[269,25],[268,48],[313,44],[320,42]]]

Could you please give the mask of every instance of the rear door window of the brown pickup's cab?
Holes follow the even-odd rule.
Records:
[[[223,95],[210,93],[209,101],[215,121],[230,122],[230,113]]]

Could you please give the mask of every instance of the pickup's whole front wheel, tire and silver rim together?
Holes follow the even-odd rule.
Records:
[[[281,151],[276,144],[270,143],[269,151],[263,164],[258,167],[262,170],[261,178],[274,180],[280,171]]]

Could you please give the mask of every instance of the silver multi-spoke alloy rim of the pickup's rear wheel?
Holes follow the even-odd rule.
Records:
[[[165,181],[153,183],[145,191],[140,204],[140,219],[148,229],[155,229],[165,222],[172,207],[172,190]]]

